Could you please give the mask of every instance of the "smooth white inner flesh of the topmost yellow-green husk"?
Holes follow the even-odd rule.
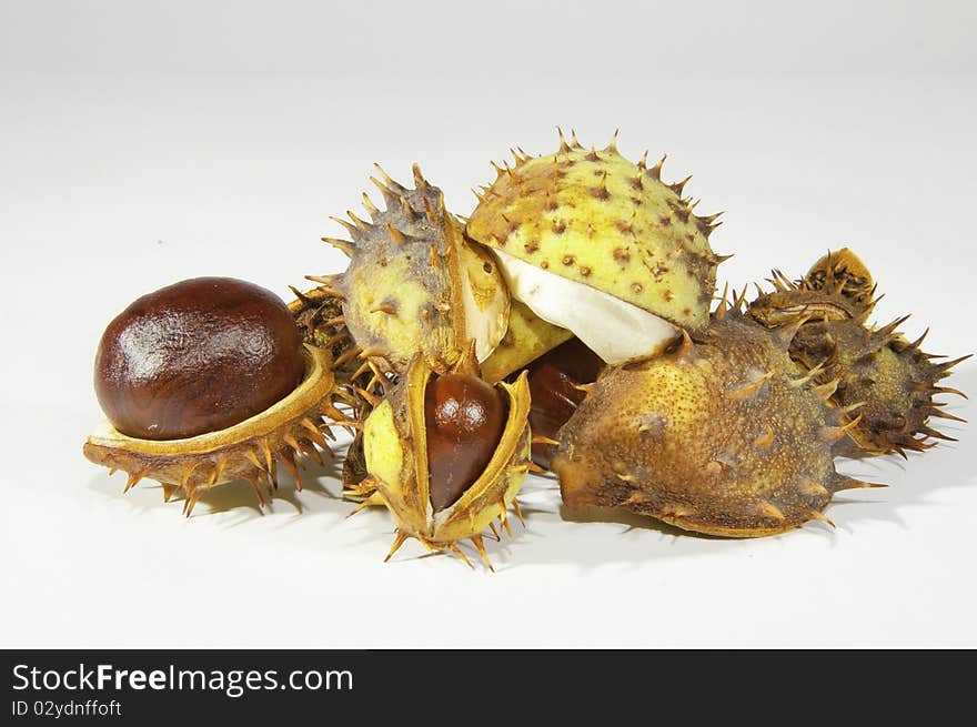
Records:
[[[510,293],[544,321],[573,331],[605,363],[621,364],[659,353],[678,329],[583,283],[493,250]]]

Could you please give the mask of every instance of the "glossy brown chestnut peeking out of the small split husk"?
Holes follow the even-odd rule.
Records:
[[[505,415],[502,394],[481,378],[446,374],[427,383],[424,422],[434,512],[455,503],[484,472]]]

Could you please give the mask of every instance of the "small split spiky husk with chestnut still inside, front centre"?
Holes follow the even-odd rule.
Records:
[[[435,364],[414,356],[363,422],[357,509],[383,505],[396,521],[386,559],[416,538],[471,565],[459,548],[470,541],[491,568],[482,536],[498,537],[496,522],[512,534],[507,513],[522,519],[516,495],[532,466],[526,374],[490,385],[474,346],[447,372]]]

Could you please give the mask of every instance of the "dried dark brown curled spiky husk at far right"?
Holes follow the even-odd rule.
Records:
[[[853,410],[858,423],[835,451],[846,456],[921,452],[931,440],[951,440],[929,426],[935,416],[961,421],[934,402],[938,393],[960,392],[938,382],[966,359],[945,363],[908,342],[897,329],[908,316],[875,327],[867,323],[878,299],[864,263],[844,249],[828,253],[798,281],[774,271],[772,293],[749,304],[748,314],[767,326],[787,325],[797,333],[790,357],[815,381],[837,381],[832,401]],[[963,395],[963,394],[961,394]],[[857,411],[856,411],[857,410]]]

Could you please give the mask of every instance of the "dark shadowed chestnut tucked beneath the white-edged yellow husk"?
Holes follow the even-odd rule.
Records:
[[[528,365],[530,427],[533,435],[556,438],[556,434],[586,395],[577,388],[597,380],[604,362],[578,339],[571,339]],[[533,444],[533,462],[548,467],[552,446]]]

